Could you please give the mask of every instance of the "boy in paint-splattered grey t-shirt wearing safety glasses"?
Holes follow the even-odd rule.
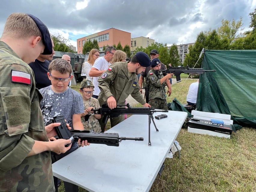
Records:
[[[69,126],[74,130],[84,130],[81,122],[81,113],[84,112],[83,99],[81,95],[68,87],[69,81],[72,79],[72,66],[64,59],[54,59],[50,62],[48,78],[51,85],[40,89],[39,91],[44,96],[41,100],[40,108],[43,113],[45,126],[52,123],[55,116],[63,115]],[[50,138],[54,139],[54,138]],[[73,142],[69,151],[64,154],[51,153],[52,162],[65,157],[67,154],[75,151],[78,148],[78,143]],[[57,178],[53,177],[56,191]],[[77,191],[78,186],[64,181],[66,191]]]

